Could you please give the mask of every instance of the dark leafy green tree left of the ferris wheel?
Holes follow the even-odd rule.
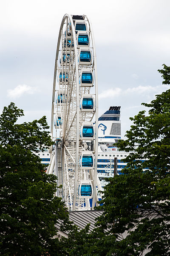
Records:
[[[20,116],[23,110],[14,103],[0,116],[0,255],[62,255],[53,238],[59,221],[69,228],[68,212],[54,197],[56,177],[33,154],[52,145],[49,127],[45,116],[17,124]]]

